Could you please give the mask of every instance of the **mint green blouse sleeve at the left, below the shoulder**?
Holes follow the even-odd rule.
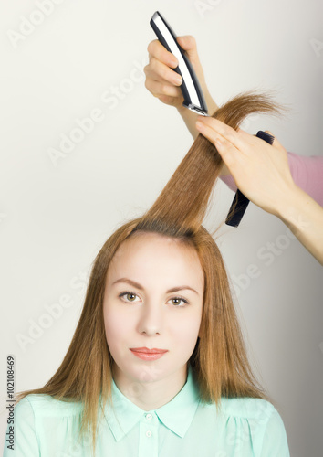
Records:
[[[14,409],[14,450],[8,448],[10,443],[5,435],[4,457],[37,457],[40,456],[35,428],[34,410],[25,397]],[[6,433],[9,431],[7,425]]]

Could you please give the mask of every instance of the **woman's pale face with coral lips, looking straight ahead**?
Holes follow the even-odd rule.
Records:
[[[156,233],[122,243],[109,266],[103,303],[117,384],[186,378],[199,335],[203,287],[193,248]],[[136,348],[166,352],[147,359],[131,351]]]

